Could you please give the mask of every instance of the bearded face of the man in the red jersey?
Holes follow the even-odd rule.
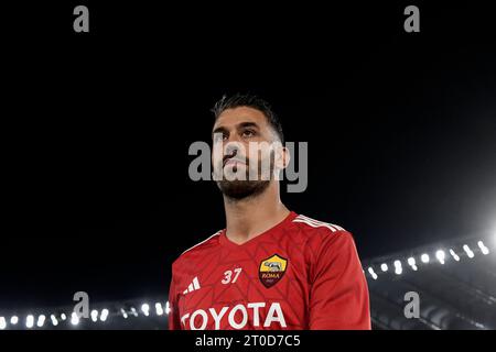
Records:
[[[213,165],[220,191],[234,199],[261,194],[270,184],[279,139],[252,108],[225,110],[214,124]]]

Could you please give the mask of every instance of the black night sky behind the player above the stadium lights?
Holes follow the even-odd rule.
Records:
[[[409,35],[402,4],[230,7],[90,2],[86,37],[69,4],[12,9],[0,308],[166,296],[172,261],[224,227],[215,185],[187,177],[224,92],[259,94],[309,142],[309,188],[283,201],[363,258],[496,228],[487,9],[423,6]]]

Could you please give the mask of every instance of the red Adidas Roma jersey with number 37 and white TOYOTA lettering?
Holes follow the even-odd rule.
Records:
[[[171,330],[370,329],[352,234],[291,212],[236,244],[222,230],[172,264]]]

